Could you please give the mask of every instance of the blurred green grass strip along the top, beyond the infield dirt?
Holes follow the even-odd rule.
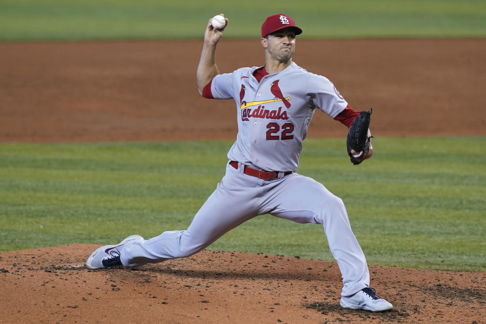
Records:
[[[485,37],[483,0],[2,0],[0,41],[201,38],[225,13],[225,37],[259,37],[266,16],[285,13],[299,37]]]

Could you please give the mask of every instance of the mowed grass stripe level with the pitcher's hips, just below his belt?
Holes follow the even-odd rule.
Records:
[[[5,169],[3,169],[5,170]],[[23,169],[25,170],[25,169]],[[49,174],[49,172],[48,172]],[[58,179],[62,179],[62,174]],[[17,176],[25,177],[25,174]],[[5,179],[7,178],[7,179]],[[44,178],[44,177],[43,177]],[[149,183],[145,183],[140,178],[132,178],[127,182],[126,178],[115,182],[113,178],[108,181],[106,178],[85,178],[84,181],[63,181],[63,180],[29,180],[15,179],[15,175],[8,175],[2,178],[0,171],[0,189],[10,190],[31,190],[44,192],[65,192],[65,193],[98,193],[112,195],[133,195],[140,196],[159,196],[159,197],[197,197],[206,198],[215,189],[220,177],[205,177],[204,180],[192,181],[191,177],[170,175],[160,177],[160,183],[153,178],[146,177]],[[136,179],[136,181],[133,181]],[[87,182],[89,181],[89,182]],[[91,182],[93,181],[93,182]],[[169,182],[170,184],[164,184]],[[182,185],[184,183],[184,185]],[[180,184],[180,185],[178,185]],[[486,206],[481,186],[466,185],[422,185],[422,184],[394,184],[394,183],[360,183],[360,182],[326,182],[326,187],[341,196],[343,194],[354,194],[360,192],[358,188],[366,187],[370,195],[401,196],[401,197],[434,197],[452,198],[482,201]],[[485,207],[486,208],[486,207]]]

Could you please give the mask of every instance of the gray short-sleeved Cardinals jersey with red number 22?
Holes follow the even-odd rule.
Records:
[[[228,158],[262,170],[295,171],[315,108],[334,118],[347,102],[326,77],[294,62],[260,83],[253,76],[256,69],[213,78],[213,97],[233,98],[238,111],[238,135]]]

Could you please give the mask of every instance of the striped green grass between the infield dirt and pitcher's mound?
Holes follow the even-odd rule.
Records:
[[[340,196],[370,264],[486,271],[484,137],[307,139],[298,172]],[[185,229],[230,141],[0,144],[0,251],[114,243]],[[194,158],[196,157],[196,158]],[[210,249],[332,260],[320,225],[257,217]]]

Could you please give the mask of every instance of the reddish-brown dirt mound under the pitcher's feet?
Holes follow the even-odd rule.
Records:
[[[2,323],[484,323],[486,273],[370,266],[383,313],[339,306],[336,262],[201,251],[138,269],[89,270],[98,246],[0,254]]]

